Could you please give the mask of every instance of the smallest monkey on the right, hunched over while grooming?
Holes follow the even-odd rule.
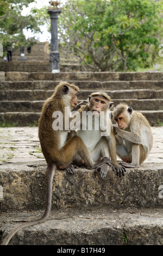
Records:
[[[124,161],[122,166],[139,168],[153,145],[153,135],[147,119],[137,111],[120,103],[113,111],[118,124],[114,126],[117,142],[117,155]]]

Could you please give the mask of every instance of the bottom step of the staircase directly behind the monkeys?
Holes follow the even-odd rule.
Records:
[[[151,126],[163,123],[163,111],[140,111],[148,119]],[[12,126],[36,125],[41,112],[1,112],[0,124],[10,124]]]

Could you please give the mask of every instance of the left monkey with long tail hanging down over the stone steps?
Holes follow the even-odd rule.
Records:
[[[5,237],[2,245],[8,245],[11,237],[20,229],[45,222],[51,211],[52,185],[55,170],[71,167],[73,160],[79,155],[86,163],[87,168],[95,169],[103,163],[108,163],[106,157],[95,163],[91,159],[91,154],[82,139],[73,136],[67,141],[68,130],[53,129],[53,114],[55,111],[65,112],[65,107],[69,109],[78,103],[77,94],[79,88],[67,82],[60,82],[55,88],[54,94],[49,97],[43,107],[39,119],[39,139],[42,153],[47,162],[47,188],[46,188],[46,208],[43,216],[34,221],[18,225]],[[64,115],[63,115],[64,116]],[[70,118],[72,120],[73,117]],[[63,119],[63,122],[65,120]],[[65,127],[65,126],[64,126]]]

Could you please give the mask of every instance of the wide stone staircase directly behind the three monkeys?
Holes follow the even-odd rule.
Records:
[[[116,106],[121,101],[141,111],[149,123],[163,121],[162,72],[2,72],[0,82],[0,121],[18,126],[33,125],[39,119],[43,102],[54,92],[60,81],[76,84],[80,88],[78,99],[103,89]]]

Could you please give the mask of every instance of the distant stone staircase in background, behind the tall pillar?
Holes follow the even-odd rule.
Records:
[[[37,42],[32,46],[31,52],[28,53],[27,47],[24,47],[24,53],[27,60],[20,59],[20,50],[16,49],[12,54],[12,61],[3,61],[0,57],[0,71],[22,71],[22,72],[50,72],[49,54],[44,52],[44,43]],[[82,71],[82,66],[79,65],[77,58],[67,55],[60,48],[60,70],[66,71]]]

